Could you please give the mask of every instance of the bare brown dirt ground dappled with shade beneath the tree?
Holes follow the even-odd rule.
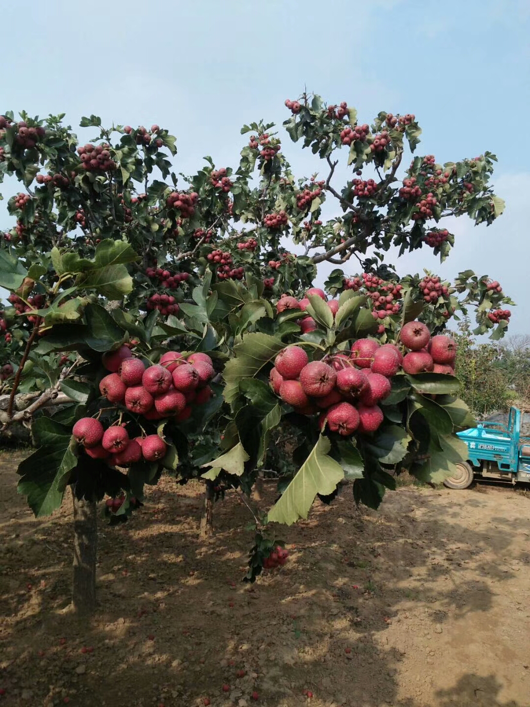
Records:
[[[134,520],[101,523],[100,611],[79,624],[69,503],[35,520],[16,461],[0,456],[1,707],[245,707],[254,690],[269,707],[530,705],[521,493],[407,486],[375,513],[346,487],[245,585],[247,509],[229,494],[203,542],[201,487],[165,479]]]

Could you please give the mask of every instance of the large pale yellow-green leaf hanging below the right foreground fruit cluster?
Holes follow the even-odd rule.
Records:
[[[307,518],[317,493],[327,496],[336,489],[344,472],[341,465],[328,455],[331,443],[327,437],[319,436],[295,477],[283,492],[281,498],[269,510],[269,522],[291,525],[298,518]]]

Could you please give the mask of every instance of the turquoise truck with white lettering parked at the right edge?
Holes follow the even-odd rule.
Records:
[[[474,477],[515,484],[530,482],[530,410],[510,408],[507,423],[485,421],[458,432],[468,448],[467,462],[457,464],[457,474],[445,479],[449,489],[466,489]],[[525,431],[526,436],[522,434]]]

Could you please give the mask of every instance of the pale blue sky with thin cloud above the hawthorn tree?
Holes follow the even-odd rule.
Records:
[[[283,101],[305,86],[329,103],[347,100],[362,122],[379,110],[415,113],[418,151],[439,162],[496,153],[505,215],[489,228],[456,221],[443,267],[424,248],[398,269],[490,274],[519,303],[511,332],[530,333],[528,0],[19,0],[2,9],[2,26],[0,112],[66,112],[73,127],[91,112],[108,123],[156,122],[177,136],[184,173],[206,154],[235,165],[241,125],[281,126]],[[300,176],[319,168],[286,135],[283,151]],[[4,207],[0,219],[11,225]]]

